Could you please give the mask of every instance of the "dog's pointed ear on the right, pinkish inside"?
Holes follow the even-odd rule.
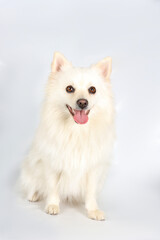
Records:
[[[106,57],[96,64],[96,67],[100,70],[102,76],[109,80],[112,72],[112,58]]]

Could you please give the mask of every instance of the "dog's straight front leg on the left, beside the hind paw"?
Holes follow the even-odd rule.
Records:
[[[59,175],[52,173],[50,176],[47,176],[47,198],[45,211],[48,214],[56,215],[59,213],[59,193],[58,193],[58,180]]]

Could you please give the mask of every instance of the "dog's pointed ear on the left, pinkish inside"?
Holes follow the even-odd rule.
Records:
[[[52,72],[59,72],[64,65],[70,65],[71,63],[59,52],[55,52],[53,62],[51,64]]]

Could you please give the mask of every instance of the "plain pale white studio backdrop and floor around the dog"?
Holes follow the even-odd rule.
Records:
[[[54,51],[88,66],[113,58],[114,161],[105,222],[22,200],[14,186],[38,124]],[[160,1],[0,0],[0,239],[160,239]]]

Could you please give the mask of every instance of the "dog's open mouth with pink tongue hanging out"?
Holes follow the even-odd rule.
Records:
[[[66,104],[66,107],[68,108],[70,114],[73,116],[73,119],[76,123],[85,124],[88,122],[88,114],[90,110],[72,109],[68,104]]]

